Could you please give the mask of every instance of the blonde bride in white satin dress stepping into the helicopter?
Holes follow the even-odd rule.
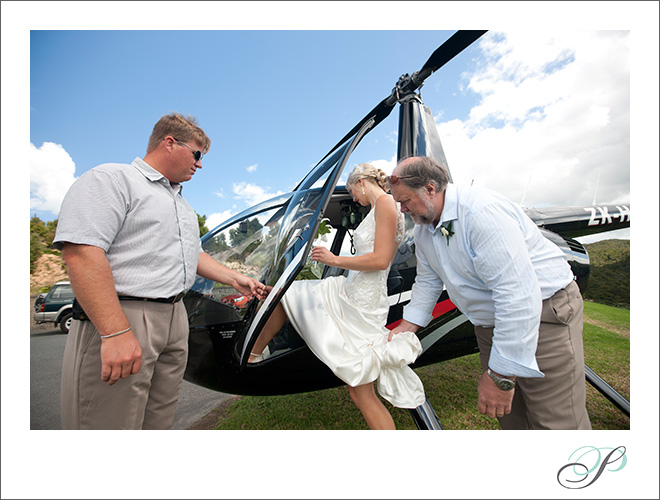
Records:
[[[392,416],[374,392],[399,408],[424,403],[424,387],[408,366],[422,352],[419,339],[403,332],[388,342],[385,328],[389,302],[387,275],[399,243],[404,219],[385,173],[368,163],[357,165],[346,188],[353,200],[371,206],[355,230],[356,255],[334,255],[315,247],[311,259],[348,269],[348,277],[295,281],[262,329],[248,363],[261,354],[288,318],[310,350],[348,385],[351,399],[371,429],[394,429]]]

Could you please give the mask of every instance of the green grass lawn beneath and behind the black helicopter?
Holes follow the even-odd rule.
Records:
[[[586,364],[630,399],[630,311],[585,302]],[[477,410],[479,355],[464,356],[416,370],[445,429],[499,429]],[[451,390],[447,390],[447,388]],[[397,429],[416,429],[408,410],[391,411]],[[630,419],[590,384],[587,409],[594,429],[630,429]],[[227,429],[368,429],[345,387],[285,396],[236,398],[218,418]]]

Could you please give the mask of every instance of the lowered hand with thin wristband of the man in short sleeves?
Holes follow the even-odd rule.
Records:
[[[101,380],[113,385],[142,368],[142,348],[132,331],[101,339]]]

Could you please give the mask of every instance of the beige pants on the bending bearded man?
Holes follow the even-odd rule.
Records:
[[[536,360],[545,378],[517,378],[512,410],[502,429],[591,429],[586,408],[582,314],[572,282],[543,301]],[[488,368],[493,329],[475,326],[481,368]]]

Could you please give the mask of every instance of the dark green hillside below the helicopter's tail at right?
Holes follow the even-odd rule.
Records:
[[[604,240],[584,247],[591,261],[584,298],[630,309],[630,240]]]

